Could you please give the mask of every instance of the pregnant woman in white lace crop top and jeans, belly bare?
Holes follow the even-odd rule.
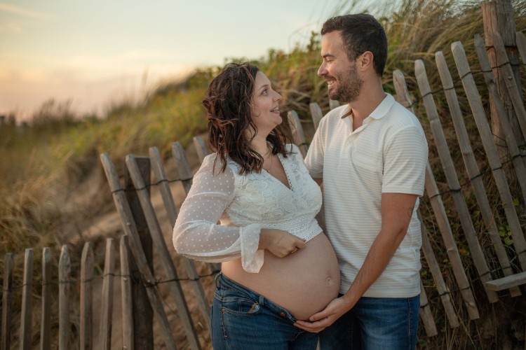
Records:
[[[215,153],[194,176],[173,243],[188,258],[222,262],[215,350],[316,349],[318,336],[293,323],[338,294],[336,256],[315,218],[321,190],[285,143],[280,101],[248,62],[227,64],[203,99]]]

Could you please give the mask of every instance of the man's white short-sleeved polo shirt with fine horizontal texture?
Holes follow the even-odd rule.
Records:
[[[341,293],[358,274],[382,225],[382,193],[422,196],[428,147],[417,117],[390,94],[363,125],[352,130],[349,105],[322,120],[306,155],[313,178],[323,177],[325,232],[342,272]],[[366,297],[413,297],[420,293],[422,233],[414,206],[407,235]]]

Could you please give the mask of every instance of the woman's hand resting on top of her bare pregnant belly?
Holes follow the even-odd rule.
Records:
[[[267,249],[278,258],[285,258],[285,256],[305,247],[304,239],[287,231],[264,228],[259,234],[259,249]]]

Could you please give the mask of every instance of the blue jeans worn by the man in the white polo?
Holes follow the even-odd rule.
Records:
[[[420,296],[361,297],[351,311],[320,333],[321,350],[414,349]]]

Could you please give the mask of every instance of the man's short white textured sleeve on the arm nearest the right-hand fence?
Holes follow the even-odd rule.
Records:
[[[424,194],[428,157],[421,127],[405,127],[391,136],[384,151],[382,193]]]

